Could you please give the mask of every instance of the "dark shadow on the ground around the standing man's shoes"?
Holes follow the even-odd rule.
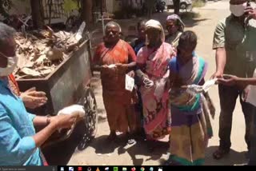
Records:
[[[206,149],[206,165],[244,165],[248,161],[247,152],[237,152],[233,149],[230,149],[230,153],[221,160],[214,160],[212,154],[217,149],[217,146],[210,146]]]

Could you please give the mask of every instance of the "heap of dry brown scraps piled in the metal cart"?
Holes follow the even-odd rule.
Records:
[[[19,59],[14,70],[15,77],[45,78],[52,73],[78,47],[84,27],[80,27],[76,34],[65,31],[54,33],[50,27],[42,31],[17,33],[15,41]]]

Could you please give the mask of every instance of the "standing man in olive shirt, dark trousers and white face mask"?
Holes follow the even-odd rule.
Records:
[[[214,33],[213,49],[216,50],[216,72],[212,78],[232,74],[251,78],[256,66],[256,10],[246,0],[230,0],[231,14],[218,23]],[[214,152],[215,159],[221,159],[230,152],[232,115],[236,100],[240,97],[242,112],[246,120],[246,144],[250,149],[250,125],[254,106],[245,102],[247,89],[238,86],[218,85],[221,113],[219,118],[220,145]]]

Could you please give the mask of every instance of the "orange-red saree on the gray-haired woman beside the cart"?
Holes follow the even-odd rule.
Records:
[[[130,57],[130,58],[129,58]],[[132,47],[122,41],[112,48],[100,44],[94,56],[94,62],[102,65],[128,64],[136,61]],[[137,117],[134,113],[134,93],[125,89],[126,70],[105,68],[101,70],[102,97],[106,109],[107,121],[111,131],[122,133],[136,129]]]

